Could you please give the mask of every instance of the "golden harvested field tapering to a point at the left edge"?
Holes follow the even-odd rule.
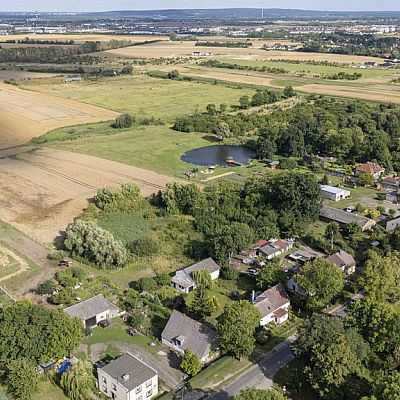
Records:
[[[0,84],[0,149],[69,125],[100,122],[117,113],[104,108]]]

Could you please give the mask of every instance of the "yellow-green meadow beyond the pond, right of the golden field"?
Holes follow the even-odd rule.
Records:
[[[137,117],[172,121],[175,117],[203,110],[207,104],[238,104],[254,90],[207,83],[173,81],[145,75],[118,76],[64,83],[62,78],[25,82],[24,88],[78,100]]]

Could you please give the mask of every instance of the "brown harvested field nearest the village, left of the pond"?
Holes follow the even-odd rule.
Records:
[[[25,147],[0,151],[0,219],[51,242],[98,188],[135,182],[148,196],[173,178],[98,157]]]

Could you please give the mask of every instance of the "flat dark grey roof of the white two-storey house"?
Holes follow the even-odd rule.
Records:
[[[131,391],[157,375],[157,371],[144,364],[131,353],[111,361],[103,368],[99,368],[115,379],[119,384]],[[129,375],[129,379],[123,376]]]

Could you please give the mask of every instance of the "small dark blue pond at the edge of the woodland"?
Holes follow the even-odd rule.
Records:
[[[255,155],[255,151],[245,146],[214,145],[188,151],[181,159],[189,164],[205,167],[214,165],[227,167],[232,166],[232,163],[227,162],[228,160],[233,160],[239,164],[249,164],[250,159],[254,158]]]

